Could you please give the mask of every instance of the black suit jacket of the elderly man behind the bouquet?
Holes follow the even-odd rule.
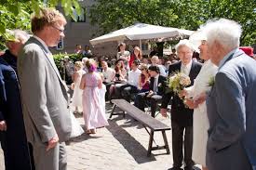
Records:
[[[168,74],[173,72],[181,72],[182,62],[176,62],[171,64],[168,68]],[[200,72],[202,64],[199,62],[192,61],[191,70],[189,77],[191,80],[191,85],[194,84],[194,79]],[[173,98],[172,98],[173,97]],[[167,108],[168,102],[171,99],[171,121],[182,126],[192,126],[193,125],[193,111],[185,108],[183,101],[178,95],[174,93],[167,93],[163,96],[161,108]]]

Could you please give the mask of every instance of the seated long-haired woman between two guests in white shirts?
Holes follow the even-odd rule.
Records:
[[[115,85],[109,88],[109,99],[113,97],[114,93],[117,98],[120,97],[120,87],[127,82],[127,70],[123,59],[118,59],[115,62]]]

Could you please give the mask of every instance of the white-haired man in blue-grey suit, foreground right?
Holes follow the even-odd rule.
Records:
[[[211,61],[219,66],[207,97],[209,170],[256,169],[256,61],[239,50],[241,26],[233,20],[209,21]]]

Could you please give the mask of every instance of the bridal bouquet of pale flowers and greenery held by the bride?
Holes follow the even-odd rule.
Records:
[[[190,85],[191,81],[189,76],[182,72],[175,72],[168,78],[167,92],[174,92],[177,95],[184,89],[185,86]]]

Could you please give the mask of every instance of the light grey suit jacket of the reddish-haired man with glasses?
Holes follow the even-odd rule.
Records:
[[[31,37],[18,58],[24,123],[32,143],[45,143],[56,134],[62,142],[71,134],[67,92],[48,54],[48,49]]]

